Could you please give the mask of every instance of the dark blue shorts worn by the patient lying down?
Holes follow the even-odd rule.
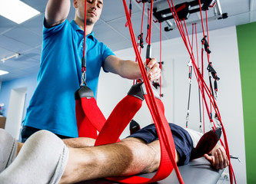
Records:
[[[178,166],[186,165],[190,160],[191,151],[193,149],[191,136],[181,126],[173,123],[169,123],[169,125],[171,127],[173,140],[175,141],[175,149],[180,156]],[[152,143],[154,140],[158,140],[158,133],[155,124],[150,124],[128,137],[135,137],[144,140],[145,143]]]

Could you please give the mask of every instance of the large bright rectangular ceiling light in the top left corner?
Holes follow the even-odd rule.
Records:
[[[36,9],[19,0],[0,0],[0,15],[21,24],[29,18],[40,14]]]

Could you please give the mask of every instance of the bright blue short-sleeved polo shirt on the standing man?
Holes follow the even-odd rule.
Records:
[[[45,24],[44,24],[45,25]],[[24,125],[63,136],[78,136],[75,90],[81,84],[84,31],[75,21],[43,28],[38,85],[27,109]],[[105,58],[114,53],[93,32],[86,37],[86,83],[97,94],[98,76]]]

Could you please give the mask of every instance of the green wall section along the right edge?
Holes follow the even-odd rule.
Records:
[[[247,183],[254,184],[256,183],[256,22],[239,25],[237,34],[244,110]]]

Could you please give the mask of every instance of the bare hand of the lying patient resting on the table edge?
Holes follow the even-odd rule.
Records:
[[[217,147],[216,147],[217,146]],[[211,156],[204,154],[205,159],[211,163],[214,169],[224,169],[229,165],[228,156],[223,146],[216,145],[211,152]]]

